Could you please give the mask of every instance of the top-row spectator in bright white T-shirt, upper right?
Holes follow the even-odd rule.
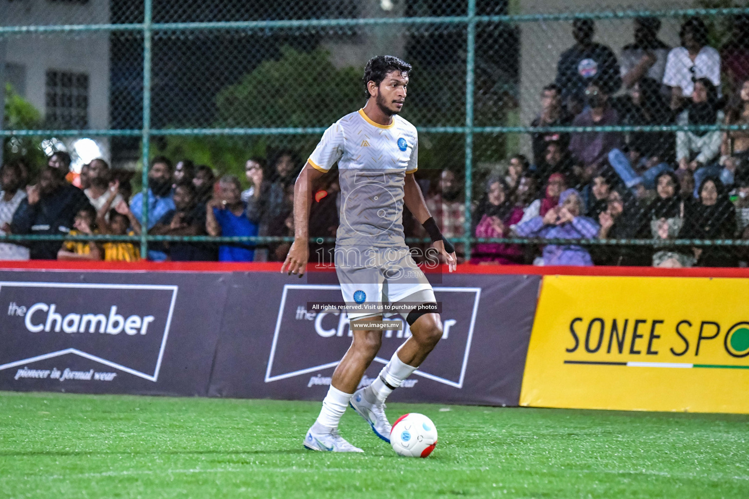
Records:
[[[694,82],[709,79],[716,88],[721,86],[721,55],[708,46],[707,26],[699,17],[690,17],[679,31],[682,46],[671,49],[663,76],[664,85],[671,88],[671,108],[682,107],[694,93]]]

